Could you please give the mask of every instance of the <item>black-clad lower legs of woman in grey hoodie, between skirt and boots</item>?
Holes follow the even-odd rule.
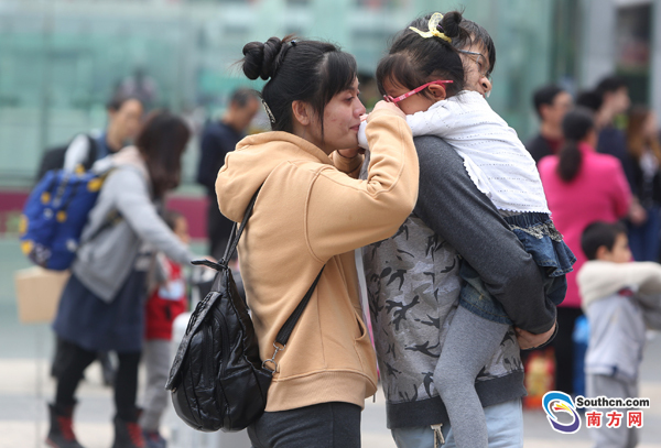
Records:
[[[85,350],[66,340],[58,346],[62,370],[57,378],[55,404],[68,406],[76,403],[75,394],[85,369],[97,358],[97,352]],[[115,406],[117,415],[128,422],[136,420],[136,396],[138,393],[138,364],[140,352],[117,353],[119,369],[115,378]]]

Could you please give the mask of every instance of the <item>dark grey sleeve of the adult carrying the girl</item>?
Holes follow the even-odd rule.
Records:
[[[519,328],[548,331],[555,306],[542,276],[494,204],[468,177],[462,157],[436,136],[415,138],[420,189],[414,212],[444,237],[480,275]]]

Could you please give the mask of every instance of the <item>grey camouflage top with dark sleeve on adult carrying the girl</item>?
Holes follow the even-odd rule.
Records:
[[[364,248],[389,428],[447,422],[433,372],[458,305],[462,258],[518,327],[540,334],[555,321],[532,258],[475,187],[460,156],[435,136],[416,138],[415,147],[420,193],[413,214],[394,236]],[[484,406],[525,394],[511,328],[476,389]]]

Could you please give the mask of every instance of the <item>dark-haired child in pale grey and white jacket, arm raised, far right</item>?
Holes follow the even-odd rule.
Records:
[[[631,261],[627,229],[620,223],[589,225],[581,245],[588,259],[576,276],[589,321],[587,397],[638,397],[646,327],[661,329],[661,265]],[[602,426],[589,431],[595,447],[637,445],[636,428],[627,427],[631,409],[617,411],[622,413],[619,427],[607,427],[604,413]]]

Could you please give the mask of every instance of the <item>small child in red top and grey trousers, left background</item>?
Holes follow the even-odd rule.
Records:
[[[177,211],[167,210],[163,219],[178,239],[187,244],[191,237],[186,218]],[[143,349],[147,387],[144,408],[140,418],[147,448],[166,446],[165,439],[159,433],[159,426],[170,396],[165,391],[165,382],[172,362],[172,323],[176,316],[186,310],[187,306],[182,267],[165,258],[163,253],[156,255],[156,263],[159,269],[164,270],[166,281],[158,285],[147,303]]]

